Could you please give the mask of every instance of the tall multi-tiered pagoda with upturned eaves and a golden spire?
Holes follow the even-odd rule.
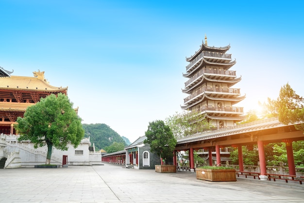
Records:
[[[241,78],[236,77],[236,71],[230,70],[236,60],[226,54],[229,48],[230,45],[209,47],[205,36],[200,49],[186,57],[189,64],[183,73],[188,80],[182,92],[189,95],[181,108],[193,115],[203,114],[217,128],[234,126],[244,119],[243,108],[234,107],[245,95],[240,94],[240,89],[232,88]]]

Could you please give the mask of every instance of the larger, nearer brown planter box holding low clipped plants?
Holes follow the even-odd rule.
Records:
[[[234,169],[200,169],[196,170],[196,178],[207,181],[236,181]]]

